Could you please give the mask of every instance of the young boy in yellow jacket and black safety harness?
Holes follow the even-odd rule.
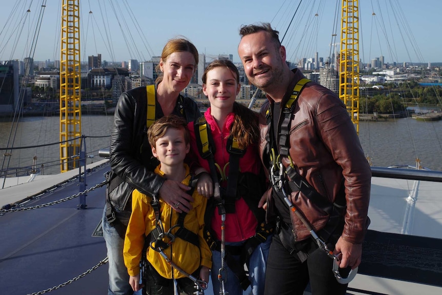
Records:
[[[155,173],[189,185],[191,174],[184,164],[190,150],[186,121],[176,115],[164,116],[149,128],[147,134],[152,154],[160,163]],[[195,284],[188,274],[208,281],[212,266],[211,250],[203,237],[207,200],[196,190],[192,196],[193,209],[186,214],[177,213],[158,196],[133,191],[132,214],[123,254],[130,276],[129,284],[134,291],[143,287],[139,285],[142,255],[147,257],[147,294],[173,294],[174,280],[180,291],[192,294]],[[175,204],[176,208],[179,206],[183,205]],[[180,214],[186,214],[184,221]]]

